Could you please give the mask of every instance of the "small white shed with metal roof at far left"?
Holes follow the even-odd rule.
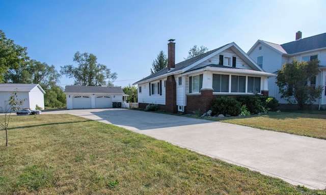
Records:
[[[25,83],[1,83],[0,84],[0,112],[6,112],[9,108],[9,98],[17,92],[19,99],[25,99],[20,108],[36,109],[36,105],[44,108],[44,90],[38,84]]]

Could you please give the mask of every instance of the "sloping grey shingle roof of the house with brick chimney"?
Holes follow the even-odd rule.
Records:
[[[226,45],[228,45],[228,44],[226,44]],[[176,71],[178,71],[178,70],[182,70],[182,69],[184,69],[185,67],[190,66],[190,65],[194,64],[195,62],[197,62],[197,61],[199,61],[199,60],[201,60],[201,59],[207,57],[207,55],[210,55],[211,53],[213,53],[213,52],[215,52],[215,51],[217,51],[217,50],[219,50],[219,49],[225,47],[226,45],[223,45],[222,47],[219,47],[219,48],[213,49],[213,50],[208,51],[208,52],[206,52],[206,53],[203,53],[203,54],[201,54],[201,55],[197,55],[197,56],[194,57],[194,58],[191,58],[191,59],[188,59],[188,60],[182,61],[182,62],[176,64],[176,65],[175,65],[175,68],[174,68],[173,70],[170,70],[170,72],[176,72]],[[163,75],[163,74],[166,74],[166,73],[168,73],[168,68],[164,68],[164,69],[162,69],[162,70],[159,70],[159,71],[155,72],[154,74],[151,74],[151,75],[149,75],[149,76],[147,76],[147,77],[145,77],[145,78],[143,78],[143,79],[141,79],[141,80],[139,80],[139,81],[137,81],[137,82],[141,82],[141,81],[143,81],[143,80],[147,80],[147,79],[155,78],[155,77],[157,77],[157,76],[160,76],[160,75]],[[137,83],[137,82],[135,82],[135,83]]]

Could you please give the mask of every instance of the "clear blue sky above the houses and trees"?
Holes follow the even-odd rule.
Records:
[[[247,52],[258,40],[287,43],[326,32],[326,1],[18,1],[0,0],[0,29],[31,59],[60,66],[76,51],[127,86],[150,74],[160,50],[176,39],[176,63],[194,45],[209,50],[235,42]],[[73,79],[61,77],[61,86]]]

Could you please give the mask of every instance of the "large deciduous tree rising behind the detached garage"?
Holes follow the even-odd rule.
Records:
[[[61,67],[60,73],[74,78],[74,85],[78,86],[113,86],[117,73],[112,73],[105,65],[97,63],[92,53],[74,54],[73,62],[77,67],[66,65]]]

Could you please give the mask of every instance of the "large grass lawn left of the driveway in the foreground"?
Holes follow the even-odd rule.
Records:
[[[326,193],[76,116],[13,116],[10,127],[1,194]]]

